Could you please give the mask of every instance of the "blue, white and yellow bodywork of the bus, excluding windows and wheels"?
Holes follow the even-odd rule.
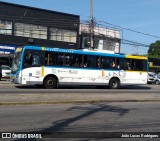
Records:
[[[142,56],[131,56],[131,55],[123,55],[123,54],[107,54],[104,52],[97,52],[97,51],[82,51],[82,50],[70,50],[70,49],[59,49],[59,48],[45,48],[45,47],[34,47],[34,46],[25,46],[23,47],[20,59],[17,62],[20,62],[19,69],[15,73],[12,74],[14,83],[19,84],[27,84],[27,85],[35,85],[35,84],[43,84],[44,79],[49,75],[54,75],[58,78],[58,84],[59,85],[108,85],[110,80],[112,78],[117,78],[120,80],[121,85],[125,84],[147,84],[147,70],[123,70],[123,69],[111,69],[111,68],[95,68],[92,67],[72,67],[72,65],[67,66],[58,66],[58,65],[40,65],[40,66],[29,66],[24,67],[24,60],[25,60],[25,51],[41,51],[41,55],[46,55],[46,53],[52,53],[53,56],[56,56],[56,54],[64,54],[64,55],[71,55],[71,56],[98,56],[101,59],[101,63],[104,61],[105,57],[113,58],[116,60],[126,60],[130,61],[132,65],[134,63],[137,63],[138,60],[142,60],[143,63],[147,62],[146,57]],[[19,52],[17,51],[17,52]],[[38,53],[32,54],[34,57]],[[69,57],[66,56],[66,57]],[[37,57],[36,56],[36,57]],[[47,58],[49,59],[51,54],[48,54]],[[43,56],[37,57],[38,59]],[[63,56],[61,55],[61,58]],[[35,58],[36,59],[36,58]],[[60,59],[60,58],[58,58]],[[62,58],[63,60],[65,59]],[[85,58],[82,61],[84,64]],[[94,58],[93,58],[94,59]],[[135,62],[131,62],[131,61]],[[32,60],[31,60],[32,61]],[[43,61],[43,60],[42,60]],[[46,63],[48,64],[50,60],[48,60]],[[66,60],[65,60],[66,61]],[[74,60],[76,61],[76,60]],[[90,61],[90,60],[89,60]],[[35,60],[36,62],[36,60]],[[80,62],[79,62],[80,63]],[[119,62],[120,64],[121,62]],[[124,63],[126,63],[124,61]],[[121,63],[123,64],[123,63]],[[102,64],[101,64],[102,65]],[[124,65],[123,65],[124,66]],[[146,67],[147,68],[147,67]]]

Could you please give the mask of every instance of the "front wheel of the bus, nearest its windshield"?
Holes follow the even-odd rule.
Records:
[[[55,89],[57,88],[57,80],[53,76],[48,76],[45,78],[43,85],[46,89]]]

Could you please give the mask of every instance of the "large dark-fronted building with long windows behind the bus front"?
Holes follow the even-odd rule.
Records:
[[[0,65],[10,65],[16,47],[77,49],[78,15],[0,2]]]

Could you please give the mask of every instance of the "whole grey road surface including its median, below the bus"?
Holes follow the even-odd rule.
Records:
[[[0,132],[159,132],[159,91],[152,84],[48,90],[0,81]]]

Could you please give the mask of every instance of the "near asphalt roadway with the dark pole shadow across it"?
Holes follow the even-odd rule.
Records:
[[[160,132],[159,107],[157,102],[1,106],[0,132]]]

